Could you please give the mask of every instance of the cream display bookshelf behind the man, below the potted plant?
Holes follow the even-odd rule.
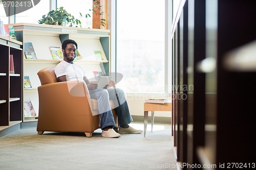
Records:
[[[61,47],[61,43],[66,39],[73,39],[78,44],[78,51],[81,54],[80,60],[74,62],[81,65],[88,73],[87,77],[94,78],[93,71],[110,71],[110,30],[73,28],[63,26],[39,25],[33,23],[12,23],[15,36],[18,41],[31,42],[37,59],[27,59],[25,56],[25,47],[23,47],[23,74],[29,76],[33,88],[23,87],[22,102],[30,99],[33,104],[36,115],[39,111],[37,87],[41,85],[37,72],[49,66],[55,66],[62,60],[54,60],[50,51],[50,46]],[[25,45],[24,45],[25,46]],[[13,45],[13,49],[15,45]],[[102,61],[96,59],[95,51],[100,51]],[[1,72],[1,70],[0,70]],[[16,73],[16,72],[15,72]],[[23,111],[24,112],[24,111]],[[37,121],[36,117],[25,117],[23,113],[23,122]]]

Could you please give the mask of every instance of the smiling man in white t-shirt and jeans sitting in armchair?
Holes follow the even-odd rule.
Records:
[[[74,63],[76,57],[77,43],[67,39],[62,43],[63,61],[55,67],[55,75],[58,82],[63,81],[84,81],[87,84],[91,99],[96,99],[98,103],[98,113],[101,118],[101,136],[120,137],[120,134],[138,134],[142,130],[137,130],[129,126],[133,121],[127,105],[123,90],[115,87],[105,86],[98,88],[97,83],[90,82],[86,77],[84,69]],[[111,111],[109,99],[114,101],[115,111],[119,122],[119,133],[115,127],[114,117]]]

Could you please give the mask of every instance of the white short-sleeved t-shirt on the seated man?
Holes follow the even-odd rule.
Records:
[[[83,81],[83,77],[86,77],[86,71],[80,65],[71,64],[64,60],[56,65],[54,72],[57,78],[66,75],[67,81]]]

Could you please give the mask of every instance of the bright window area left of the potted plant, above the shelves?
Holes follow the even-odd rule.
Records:
[[[16,14],[15,23],[38,23],[37,21],[42,18],[42,15],[47,14],[50,11],[50,1],[41,0],[33,8]]]

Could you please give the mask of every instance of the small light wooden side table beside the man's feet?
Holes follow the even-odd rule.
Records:
[[[172,103],[144,103],[144,137],[146,135],[148,111],[151,111],[151,132],[153,131],[155,111],[172,111]]]

